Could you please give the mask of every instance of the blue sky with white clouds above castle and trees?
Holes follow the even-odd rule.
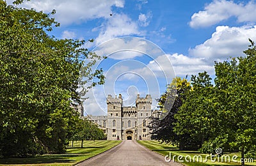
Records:
[[[133,105],[137,93],[158,98],[174,75],[206,70],[214,78],[214,61],[243,56],[248,38],[256,41],[255,1],[31,0],[22,6],[55,9],[61,27],[52,35],[93,38],[86,47],[108,55],[96,66],[106,85],[88,93],[87,114],[106,114],[108,93],[122,93],[125,105]],[[138,38],[109,41],[123,36]]]

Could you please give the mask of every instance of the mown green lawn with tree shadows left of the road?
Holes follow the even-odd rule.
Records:
[[[74,141],[74,147],[68,146],[65,154],[42,155],[35,158],[5,158],[0,159],[0,165],[74,165],[120,143],[121,140],[95,140],[95,142],[86,140],[81,148],[81,141]]]

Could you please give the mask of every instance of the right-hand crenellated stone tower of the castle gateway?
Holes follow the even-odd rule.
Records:
[[[138,110],[138,140],[150,140],[150,134],[148,134],[150,129],[148,124],[150,122],[149,117],[151,116],[151,105],[152,97],[147,94],[145,98],[140,98],[140,94],[136,98],[136,107]]]

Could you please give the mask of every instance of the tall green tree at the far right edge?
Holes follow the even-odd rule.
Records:
[[[256,144],[256,47],[252,40],[250,42],[249,49],[244,51],[245,57],[215,64],[219,135],[230,135],[230,146],[238,147],[242,158],[255,150]]]

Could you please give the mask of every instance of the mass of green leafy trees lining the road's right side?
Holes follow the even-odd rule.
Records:
[[[251,44],[244,51],[246,56],[215,63],[215,86],[207,72],[192,75],[191,90],[183,93],[182,103],[169,121],[172,130],[163,128],[162,133],[170,135],[164,134],[167,138],[159,137],[161,140],[185,136],[180,144],[203,153],[214,153],[221,148],[223,152],[241,151],[242,158],[255,156],[256,47],[249,41]],[[160,106],[166,93],[162,96]]]

